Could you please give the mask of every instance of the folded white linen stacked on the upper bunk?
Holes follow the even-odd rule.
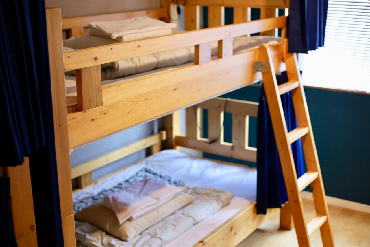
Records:
[[[148,16],[139,16],[119,21],[90,22],[89,26],[91,35],[128,41],[170,34],[172,28],[177,25],[155,20]]]

